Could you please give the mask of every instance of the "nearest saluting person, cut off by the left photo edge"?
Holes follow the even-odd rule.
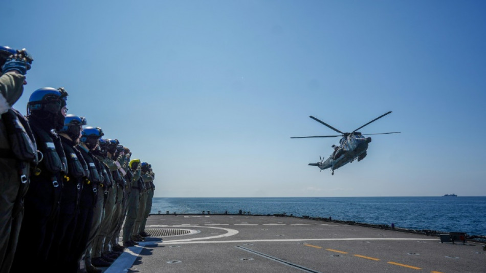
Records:
[[[26,51],[23,51],[26,52]],[[26,55],[26,56],[24,56]],[[10,270],[24,217],[24,196],[30,165],[37,164],[37,146],[27,119],[13,104],[24,92],[32,57],[0,46],[0,272]],[[16,132],[16,133],[15,133]],[[25,143],[25,149],[18,149]]]

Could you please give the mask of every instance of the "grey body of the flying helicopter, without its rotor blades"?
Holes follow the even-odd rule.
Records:
[[[371,138],[365,138],[360,133],[348,135],[341,138],[338,148],[326,160],[309,165],[318,166],[321,170],[329,168],[331,171],[337,170],[356,159],[358,161],[363,159],[366,156],[369,142],[371,142]]]

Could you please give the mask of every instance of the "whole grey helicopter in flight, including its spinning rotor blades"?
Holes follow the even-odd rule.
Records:
[[[310,166],[318,166],[319,169],[325,170],[329,169],[332,171],[332,175],[334,175],[334,170],[339,169],[340,167],[346,165],[347,163],[351,163],[355,160],[361,161],[363,160],[368,150],[368,144],[371,142],[371,137],[364,137],[366,135],[383,135],[383,134],[400,134],[401,132],[388,132],[388,133],[375,133],[375,134],[361,134],[358,132],[361,128],[365,127],[369,123],[376,121],[388,114],[392,111],[389,111],[370,122],[362,125],[358,129],[350,132],[350,133],[343,133],[338,129],[332,127],[331,125],[325,123],[322,120],[319,120],[313,116],[309,116],[310,118],[314,119],[315,121],[326,125],[328,128],[340,133],[341,135],[334,135],[334,136],[305,136],[305,137],[291,137],[291,138],[317,138],[317,137],[341,137],[339,140],[339,145],[333,145],[334,151],[330,156],[324,160],[324,158],[320,157],[320,160],[317,163],[309,163]]]

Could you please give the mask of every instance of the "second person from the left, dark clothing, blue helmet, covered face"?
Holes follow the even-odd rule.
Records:
[[[27,103],[27,118],[43,159],[35,173],[30,175],[24,221],[11,272],[50,267],[47,255],[59,217],[62,181],[68,166],[61,140],[53,129],[64,127],[67,96],[63,88],[40,88],[31,94]]]

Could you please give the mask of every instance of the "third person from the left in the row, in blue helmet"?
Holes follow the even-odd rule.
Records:
[[[74,272],[76,270],[75,266],[69,270],[67,259],[70,257],[70,253],[74,252],[71,244],[78,220],[79,198],[83,184],[89,181],[90,175],[81,152],[76,148],[83,125],[86,125],[84,117],[67,115],[64,120],[64,127],[58,130],[68,162],[68,172],[62,180],[59,220],[48,256],[51,272]],[[79,236],[79,234],[76,234],[76,236]]]

